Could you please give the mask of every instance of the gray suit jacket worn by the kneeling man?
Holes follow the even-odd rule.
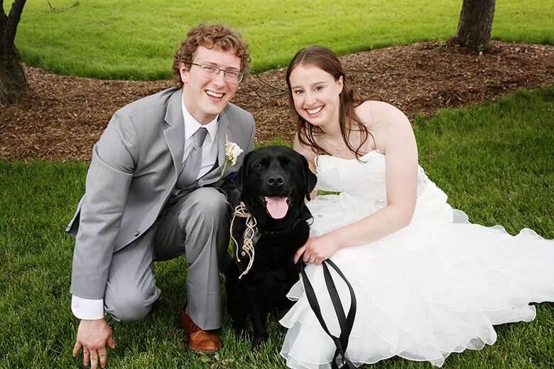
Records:
[[[94,145],[85,195],[66,231],[75,237],[71,292],[103,299],[112,255],[148,231],[175,189],[183,163],[182,89],[170,88],[116,111]],[[225,162],[225,133],[244,153]],[[222,187],[254,146],[254,118],[228,104],[219,114],[219,154],[200,187]]]

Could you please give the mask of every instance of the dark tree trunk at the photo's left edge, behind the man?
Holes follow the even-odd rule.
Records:
[[[13,1],[9,16],[6,16],[4,1],[0,0],[0,108],[13,104],[29,91],[21,57],[13,43],[25,2]]]

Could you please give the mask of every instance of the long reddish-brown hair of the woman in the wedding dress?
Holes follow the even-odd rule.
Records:
[[[329,154],[324,148],[318,145],[315,140],[315,136],[322,136],[325,133],[321,130],[321,128],[313,126],[310,122],[303,119],[295,109],[293,92],[290,87],[290,73],[295,67],[298,67],[298,65],[318,67],[332,75],[336,81],[342,77],[343,87],[342,92],[340,93],[339,112],[340,131],[342,133],[342,139],[348,149],[352,151],[357,158],[360,158],[363,155],[361,151],[362,146],[369,137],[373,137],[371,132],[369,132],[364,123],[362,123],[362,120],[359,119],[359,116],[354,110],[356,106],[362,104],[364,99],[359,97],[358,92],[350,86],[349,76],[347,76],[346,72],[344,72],[337,55],[335,55],[332,50],[323,46],[314,45],[298,51],[298,53],[296,53],[293,57],[293,60],[290,61],[287,68],[286,82],[288,85],[288,106],[290,109],[290,115],[296,124],[298,140],[302,145],[311,148],[316,154]],[[360,131],[361,142],[357,147],[354,147],[349,141],[350,133],[352,131]]]

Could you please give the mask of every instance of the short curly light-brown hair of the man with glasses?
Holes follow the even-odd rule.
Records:
[[[198,48],[215,48],[216,50],[234,50],[235,55],[241,58],[241,73],[247,75],[250,70],[249,45],[237,32],[222,24],[200,24],[187,33],[173,57],[173,76],[178,87],[183,87],[181,81],[179,63],[185,65],[192,63],[192,57]]]

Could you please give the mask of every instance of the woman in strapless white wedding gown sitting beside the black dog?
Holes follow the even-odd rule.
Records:
[[[300,50],[287,70],[294,148],[317,174],[308,202],[308,263],[330,331],[338,335],[321,263],[331,258],[352,284],[357,315],[347,357],[357,365],[401,356],[441,366],[453,352],[496,341],[494,324],[531,321],[531,302],[554,301],[554,242],[531,229],[470,224],[418,165],[411,124],[395,107],[360,101],[331,50]],[[315,195],[315,194],[313,194]],[[345,310],[349,294],[337,279]],[[332,339],[302,282],[281,324],[290,368],[331,368]]]

